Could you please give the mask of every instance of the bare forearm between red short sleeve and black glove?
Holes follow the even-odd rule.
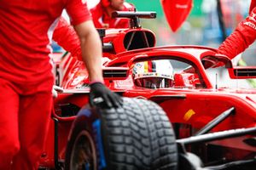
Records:
[[[102,42],[91,20],[77,26],[75,31],[80,39],[82,58],[89,72],[90,82],[103,82],[102,77]]]

